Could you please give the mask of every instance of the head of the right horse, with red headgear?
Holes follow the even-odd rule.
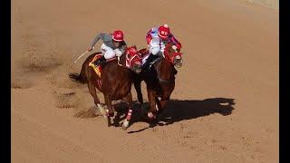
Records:
[[[164,57],[176,67],[182,66],[182,53],[180,49],[173,43],[168,43],[164,50]]]

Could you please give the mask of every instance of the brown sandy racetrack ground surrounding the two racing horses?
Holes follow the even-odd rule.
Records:
[[[159,24],[185,53],[171,122],[106,127],[67,76],[84,58],[73,60],[116,28],[143,48]],[[278,162],[278,12],[243,0],[13,0],[11,95],[12,162]]]

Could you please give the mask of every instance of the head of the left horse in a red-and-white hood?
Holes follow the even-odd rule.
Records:
[[[135,45],[126,49],[126,67],[131,69],[133,72],[141,72],[141,54],[137,51]]]

